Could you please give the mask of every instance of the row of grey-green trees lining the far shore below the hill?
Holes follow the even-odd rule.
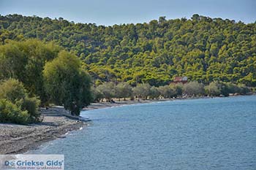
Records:
[[[211,82],[209,85],[203,85],[199,82],[188,82],[186,84],[177,83],[164,86],[151,86],[148,83],[138,84],[132,87],[127,82],[118,83],[105,82],[102,85],[93,88],[94,101],[112,101],[113,98],[138,99],[158,99],[158,98],[192,98],[199,96],[229,96],[232,94],[241,94],[251,92],[251,89],[245,85],[235,85],[230,82]]]

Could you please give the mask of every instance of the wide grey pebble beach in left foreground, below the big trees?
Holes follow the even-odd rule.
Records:
[[[67,117],[68,112],[61,108],[50,108],[41,112],[44,117],[41,123],[0,123],[0,155],[34,150],[42,143],[64,138],[67,132],[88,125],[79,117]]]

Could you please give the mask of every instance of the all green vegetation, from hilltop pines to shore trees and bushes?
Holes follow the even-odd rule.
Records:
[[[49,104],[79,115],[113,98],[254,92],[255,33],[256,23],[199,15],[119,26],[0,15],[0,123],[40,121]]]

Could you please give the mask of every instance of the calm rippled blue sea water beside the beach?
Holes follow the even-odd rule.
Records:
[[[256,96],[165,101],[82,112],[92,122],[30,153],[65,169],[256,169]]]

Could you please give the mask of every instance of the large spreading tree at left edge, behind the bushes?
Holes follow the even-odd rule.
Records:
[[[47,101],[43,88],[42,70],[47,61],[56,58],[60,47],[39,40],[8,42],[0,46],[0,79],[20,80],[29,93]]]

